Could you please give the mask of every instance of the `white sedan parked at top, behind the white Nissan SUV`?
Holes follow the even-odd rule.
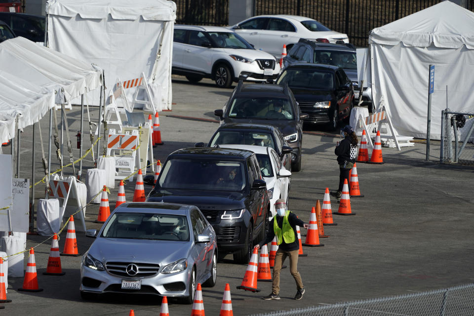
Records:
[[[304,16],[258,15],[230,27],[238,35],[276,58],[281,57],[283,44],[288,51],[300,39],[327,39],[349,42],[347,34],[327,27]]]

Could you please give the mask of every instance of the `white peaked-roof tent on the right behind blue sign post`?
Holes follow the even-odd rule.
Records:
[[[373,29],[369,36],[374,104],[382,96],[401,135],[426,137],[429,65],[435,65],[431,135],[440,139],[441,110],[472,112],[474,13],[443,1]]]

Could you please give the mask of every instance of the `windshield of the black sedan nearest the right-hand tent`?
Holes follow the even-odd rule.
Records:
[[[292,88],[332,90],[334,88],[334,74],[319,69],[286,69],[276,83],[288,83],[288,86]]]

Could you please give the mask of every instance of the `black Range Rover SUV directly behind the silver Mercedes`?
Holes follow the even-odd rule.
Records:
[[[153,179],[147,178],[153,185]],[[217,234],[220,256],[234,253],[247,263],[253,245],[265,237],[270,201],[253,152],[188,148],[171,153],[147,202],[196,205]]]

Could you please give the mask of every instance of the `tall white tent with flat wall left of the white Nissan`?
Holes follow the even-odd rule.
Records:
[[[157,109],[171,109],[173,1],[48,0],[46,15],[49,47],[99,65],[109,89],[144,72]]]

